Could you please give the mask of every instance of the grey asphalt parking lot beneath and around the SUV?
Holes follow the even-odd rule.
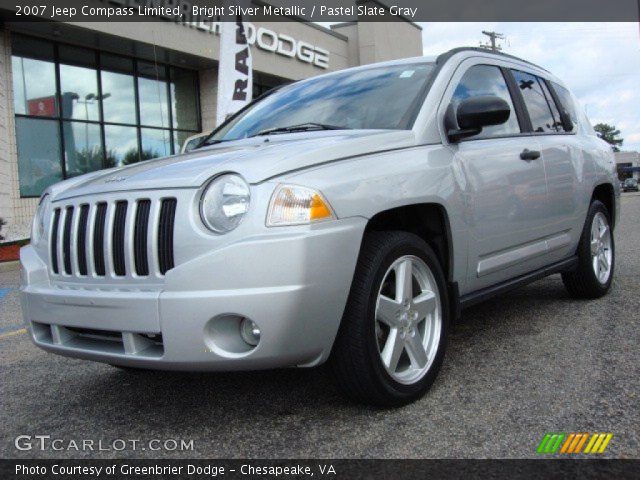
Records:
[[[0,273],[0,456],[536,457],[546,432],[611,432],[640,457],[640,195],[625,194],[611,293],[569,298],[559,275],[464,312],[430,393],[398,410],[345,401],[328,369],[127,373],[34,347],[19,272]],[[65,441],[186,439],[193,451],[19,451]]]

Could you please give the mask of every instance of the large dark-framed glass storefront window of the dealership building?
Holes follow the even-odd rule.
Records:
[[[200,130],[196,72],[20,34],[12,55],[22,196],[171,155]]]

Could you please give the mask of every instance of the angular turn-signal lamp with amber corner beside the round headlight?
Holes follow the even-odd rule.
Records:
[[[303,225],[335,218],[329,203],[317,190],[280,185],[271,197],[267,226]]]

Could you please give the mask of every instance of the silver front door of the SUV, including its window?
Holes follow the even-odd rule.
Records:
[[[519,94],[504,66],[470,59],[452,78],[448,112],[473,96],[492,95],[510,106],[509,120],[450,144],[464,172],[469,225],[467,293],[538,268],[547,235],[547,185],[538,139],[527,134]],[[448,96],[449,95],[449,96]],[[524,154],[524,155],[523,155]]]

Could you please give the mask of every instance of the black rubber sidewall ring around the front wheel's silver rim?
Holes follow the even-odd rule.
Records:
[[[379,379],[384,394],[399,399],[404,398],[410,400],[420,396],[431,386],[444,360],[449,329],[449,302],[445,278],[438,257],[426,242],[415,235],[404,234],[398,236],[397,240],[389,245],[386,251],[380,253],[380,262],[377,265],[373,279],[370,281],[369,299],[366,312],[363,315],[364,321],[366,322],[364,334],[366,336],[367,354],[375,377]],[[436,357],[425,376],[411,385],[397,382],[389,375],[380,358],[375,334],[375,310],[382,280],[393,262],[405,255],[413,255],[420,258],[433,273],[440,295],[440,308],[442,312],[442,328]]]

